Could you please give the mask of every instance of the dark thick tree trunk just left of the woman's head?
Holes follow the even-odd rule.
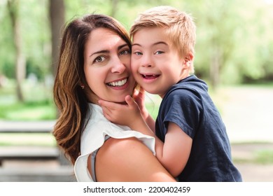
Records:
[[[61,43],[61,30],[64,25],[64,0],[50,0],[50,27],[51,27],[51,58],[52,75],[56,76],[57,64],[59,60],[59,45]]]

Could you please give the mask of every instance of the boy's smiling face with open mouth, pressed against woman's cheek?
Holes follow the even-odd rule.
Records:
[[[169,87],[188,76],[186,60],[159,27],[144,28],[133,37],[131,68],[137,83],[164,97]]]

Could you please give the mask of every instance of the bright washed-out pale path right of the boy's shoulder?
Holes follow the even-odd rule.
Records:
[[[218,94],[231,142],[273,142],[273,87],[226,87]]]

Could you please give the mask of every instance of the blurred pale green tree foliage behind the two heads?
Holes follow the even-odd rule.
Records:
[[[267,1],[65,0],[66,21],[87,13],[113,15],[129,30],[134,18],[152,6],[169,5],[193,15],[197,24],[195,71],[209,79],[210,66],[219,57],[221,83],[244,83],[273,78],[273,13]],[[116,2],[113,5],[113,2]],[[27,59],[27,75],[40,80],[50,73],[48,0],[20,1],[20,29]],[[0,3],[0,74],[15,76],[15,48],[6,1]],[[60,31],[61,32],[61,31]],[[230,80],[232,76],[232,80]]]

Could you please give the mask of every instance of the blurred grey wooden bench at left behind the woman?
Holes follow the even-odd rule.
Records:
[[[52,132],[55,121],[50,122],[3,122],[0,121],[1,134],[37,134]],[[36,142],[37,143],[37,142]],[[10,167],[15,161],[16,167]],[[54,167],[48,167],[47,161],[56,161]],[[18,164],[19,162],[19,164]],[[21,162],[25,164],[21,165]],[[6,164],[4,164],[6,163]],[[42,165],[33,167],[34,165]],[[26,167],[27,165],[27,167]],[[59,166],[56,166],[59,165]],[[73,166],[64,157],[57,146],[1,146],[0,145],[0,181],[76,181]]]

